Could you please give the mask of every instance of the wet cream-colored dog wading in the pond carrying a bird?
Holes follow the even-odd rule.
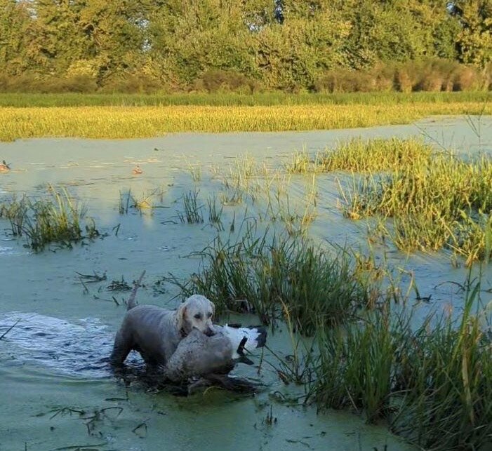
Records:
[[[110,361],[122,365],[131,350],[140,352],[147,365],[166,365],[180,341],[192,330],[213,335],[213,302],[192,295],[177,310],[155,305],[128,303],[128,309],[114,339]]]

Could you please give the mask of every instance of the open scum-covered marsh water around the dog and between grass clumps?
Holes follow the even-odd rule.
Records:
[[[466,154],[492,152],[492,119],[432,118],[408,126],[304,133],[0,143],[0,160],[12,166],[0,174],[1,198],[42,196],[46,184],[67,187],[105,235],[72,249],[51,246],[32,253],[0,220],[0,336],[14,325],[0,339],[0,450],[413,449],[385,424],[368,425],[350,412],[317,412],[300,405],[302,387],[284,385],[269,352],[264,358],[272,365],[234,370],[265,384],[255,396],[211,389],[177,397],[149,390],[138,377],[125,383],[107,368],[112,337],[124,316],[122,301],[128,297],[108,285],[122,278],[131,285],[145,269],[138,301],[174,308],[178,290],[161,283],[162,277],[172,273],[184,280],[197,271],[200,259],[190,254],[217,234],[206,221],[182,224],[182,196],[188,191],[199,191],[205,206],[208,196],[220,191],[221,175],[241,164],[238,157],[244,155],[274,170],[295,150],[314,154],[352,137],[410,136]],[[141,174],[132,173],[135,165]],[[366,225],[343,217],[335,175],[319,175],[316,183],[317,217],[310,236],[364,249]],[[306,184],[305,176],[291,177],[288,190],[294,201],[302,201]],[[149,198],[155,208],[121,214],[121,195],[128,189],[137,198]],[[239,233],[240,217],[261,207],[245,208],[225,206],[227,233]],[[450,304],[460,310],[462,295],[450,282],[463,282],[463,265],[453,267],[444,252],[407,256],[391,246],[384,251],[390,264],[413,271],[420,295],[431,295],[423,311]],[[81,274],[105,279],[91,282]],[[484,288],[490,288],[490,275],[486,270]],[[268,344],[286,356],[291,347],[281,329],[270,334]],[[138,356],[130,364],[141,367]]]

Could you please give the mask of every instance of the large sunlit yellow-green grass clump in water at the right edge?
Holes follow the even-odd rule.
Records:
[[[458,159],[450,152],[415,159],[384,173],[352,174],[339,183],[343,213],[351,219],[392,218],[385,234],[406,252],[446,248],[470,265],[488,259],[492,234],[492,161]]]

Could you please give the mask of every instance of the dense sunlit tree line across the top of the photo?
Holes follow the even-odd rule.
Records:
[[[398,88],[411,65],[455,89],[463,64],[488,88],[491,60],[492,0],[0,0],[4,90]]]

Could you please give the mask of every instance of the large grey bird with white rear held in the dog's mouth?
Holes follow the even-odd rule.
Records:
[[[237,363],[252,365],[247,354],[265,346],[267,330],[262,326],[213,325],[213,335],[194,329],[182,339],[164,367],[171,382],[193,377],[223,375]]]

